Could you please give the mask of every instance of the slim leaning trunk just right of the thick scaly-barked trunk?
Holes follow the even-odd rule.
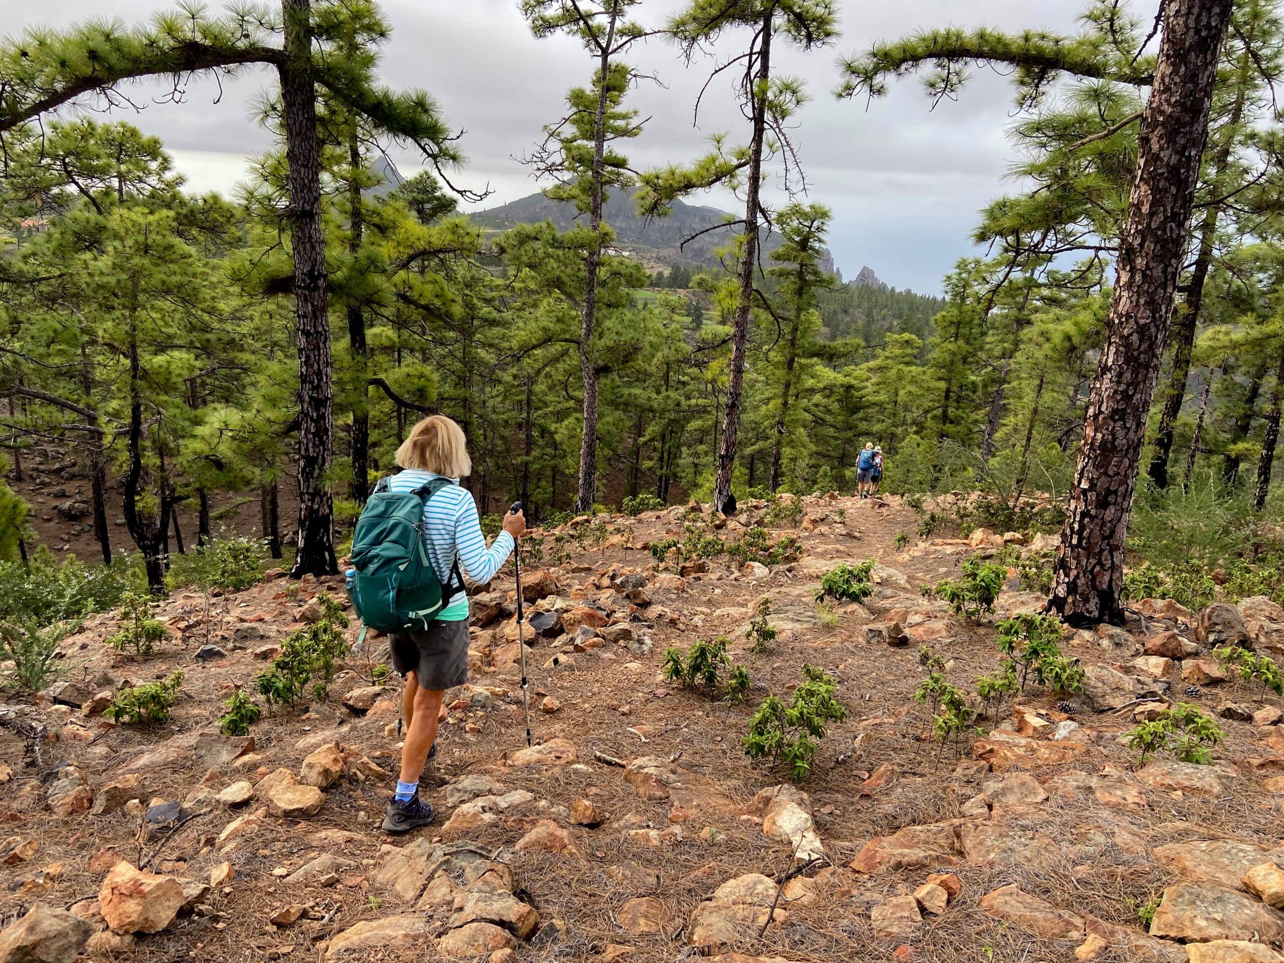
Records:
[[[1248,42],[1252,37],[1248,39]],[[1226,140],[1217,146],[1211,163],[1210,182],[1216,193],[1220,189],[1219,176],[1230,163],[1231,148],[1234,146],[1234,130],[1244,118],[1244,101],[1248,95],[1249,77],[1252,76],[1252,55],[1248,46],[1239,58],[1236,69],[1235,99],[1230,105],[1226,117]],[[1190,376],[1190,354],[1194,349],[1195,330],[1199,326],[1199,309],[1203,306],[1204,282],[1208,280],[1208,270],[1212,267],[1213,245],[1217,239],[1217,218],[1221,214],[1222,204],[1210,204],[1204,211],[1204,217],[1199,225],[1199,253],[1195,257],[1194,270],[1190,272],[1190,282],[1186,289],[1185,303],[1177,312],[1176,324],[1170,333],[1172,342],[1172,371],[1168,375],[1168,385],[1163,394],[1163,410],[1159,412],[1159,426],[1154,435],[1154,455],[1150,457],[1148,474],[1157,488],[1168,487],[1168,457],[1172,452],[1174,430],[1177,424],[1177,415],[1181,413],[1181,403],[1186,395],[1186,379]]]

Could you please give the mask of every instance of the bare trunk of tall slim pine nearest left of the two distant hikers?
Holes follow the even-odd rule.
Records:
[[[755,83],[751,90],[754,136],[749,144],[749,168],[745,173],[745,247],[740,257],[740,293],[732,317],[731,367],[727,372],[727,403],[723,408],[722,439],[718,444],[714,508],[731,507],[731,482],[736,469],[736,444],[740,439],[740,402],[745,384],[745,360],[749,354],[749,329],[754,317],[754,272],[758,268],[759,189],[763,180],[763,141],[767,137],[767,95],[772,78],[772,28],[774,8],[768,8],[759,27],[759,53]]]

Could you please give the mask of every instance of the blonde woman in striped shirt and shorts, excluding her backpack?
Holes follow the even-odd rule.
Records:
[[[401,774],[384,818],[384,831],[392,833],[410,832],[433,820],[433,806],[419,797],[419,777],[437,741],[446,690],[469,678],[469,598],[460,566],[474,582],[489,582],[526,530],[523,512],[510,512],[503,516],[503,530],[487,548],[476,502],[460,487],[460,479],[473,471],[467,442],[464,430],[444,415],[426,417],[411,429],[397,449],[397,465],[402,471],[380,485],[389,492],[428,487],[424,541],[448,601],[426,629],[389,638],[393,668],[406,679]]]

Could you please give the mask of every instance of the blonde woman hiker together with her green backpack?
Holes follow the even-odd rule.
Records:
[[[393,668],[406,679],[406,742],[383,827],[393,833],[433,820],[433,806],[419,797],[419,778],[437,741],[446,690],[469,678],[469,600],[461,564],[474,582],[489,582],[526,530],[520,511],[507,514],[503,530],[487,548],[476,502],[460,487],[473,471],[467,442],[451,419],[433,415],[415,425],[397,449],[397,465],[402,471],[381,479],[362,511],[352,551],[353,602],[366,625],[389,625]],[[407,496],[421,499],[421,507]],[[429,565],[412,548],[420,533]]]

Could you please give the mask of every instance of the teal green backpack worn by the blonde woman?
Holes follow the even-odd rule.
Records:
[[[352,534],[352,605],[366,628],[404,634],[424,630],[464,591],[458,560],[443,586],[424,544],[424,505],[451,484],[434,478],[413,492],[389,492],[388,479],[374,493]]]

